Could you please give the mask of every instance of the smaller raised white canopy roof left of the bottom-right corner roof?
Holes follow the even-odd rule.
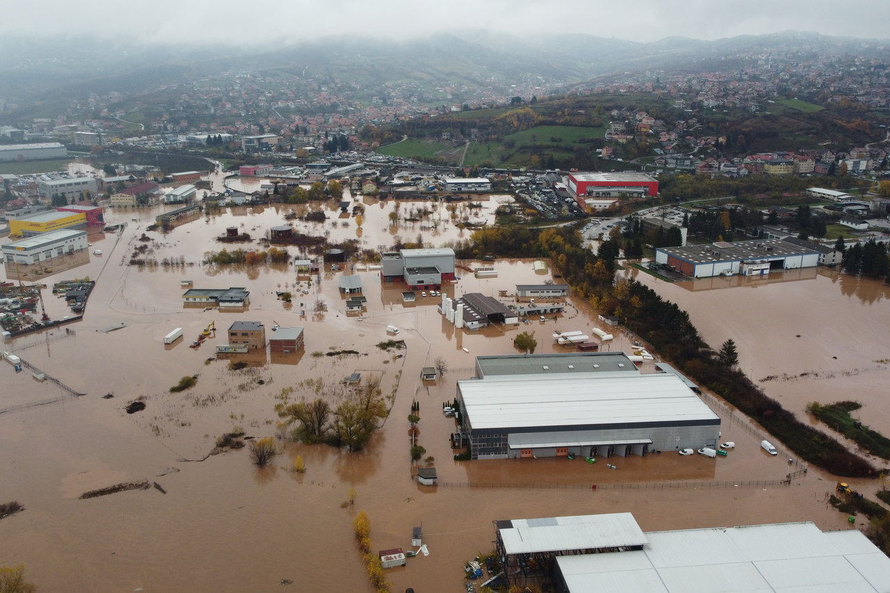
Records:
[[[507,554],[643,546],[649,541],[630,513],[498,521],[498,532]]]

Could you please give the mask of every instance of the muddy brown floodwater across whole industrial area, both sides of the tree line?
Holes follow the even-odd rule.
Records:
[[[480,215],[490,216],[498,201],[482,203]],[[401,206],[406,207],[411,204]],[[557,321],[456,330],[437,312],[438,299],[418,296],[415,303],[403,304],[399,285],[382,286],[376,271],[354,272],[368,298],[367,311],[359,318],[346,314],[337,279],[343,272],[329,266],[312,276],[310,285],[296,276],[293,265],[199,265],[205,251],[222,248],[213,238],[227,226],[243,225],[262,237],[269,226],[284,223],[290,208],[235,208],[198,216],[166,235],[145,231],[156,212],[109,212],[109,223],[126,222],[127,227],[120,236],[91,236],[96,246],[101,240],[101,256],[90,255],[67,271],[40,277],[47,284],[84,276],[97,280],[84,320],[69,326],[73,335],[53,329],[4,347],[85,395],[63,397],[66,392],[52,382],[38,383],[27,370],[17,374],[11,365],[0,364],[0,409],[59,400],[0,413],[0,502],[19,500],[26,508],[0,520],[0,565],[24,563],[29,578],[47,591],[371,591],[352,535],[352,518],[365,510],[375,549],[409,548],[411,528],[423,524],[430,555],[409,558],[406,567],[387,571],[392,590],[457,593],[465,590],[465,561],[492,548],[491,522],[497,519],[630,511],[644,531],[784,521],[813,521],[825,530],[847,528],[846,516],[827,505],[834,478],[811,469],[782,485],[798,466],[789,470],[788,459],[767,455],[758,447],[761,437],[744,419],[720,409],[723,438],[736,443],[725,459],[650,454],[612,458],[616,469],[565,458],[454,461],[448,437],[456,426],[441,413],[441,402],[454,398],[458,378],[470,376],[474,356],[516,353],[513,337],[524,330],[536,332],[538,352],[546,353],[562,348],[550,337],[554,329],[609,328],[570,298],[570,307]],[[391,229],[388,208],[392,205],[368,205],[368,212],[378,213],[363,225],[361,238],[369,247],[390,245],[395,235],[422,233],[433,245],[462,238],[450,221],[441,225],[439,236],[420,229],[420,223]],[[442,211],[443,218],[448,214]],[[334,227],[334,220],[350,226]],[[324,224],[312,227],[318,229],[313,234],[356,236],[354,218]],[[139,241],[143,232],[150,241]],[[158,261],[182,256],[185,264],[126,265],[141,243],[150,245]],[[293,248],[291,255],[296,255]],[[497,297],[502,290],[513,294],[516,283],[553,278],[549,271],[536,273],[531,261],[495,265],[498,276],[483,279],[459,270],[461,280],[443,292]],[[193,280],[195,288],[247,287],[250,305],[238,311],[184,308],[182,278]],[[792,303],[818,300],[796,288],[805,284],[824,285],[819,295],[837,296],[829,297],[824,308],[807,310]],[[872,307],[884,311],[886,303],[874,298],[867,302],[856,290],[846,294],[843,284],[843,279],[820,275],[756,292],[690,292],[670,285],[658,289],[684,308],[693,302],[683,298],[701,299],[694,303],[701,311],[692,318],[705,337],[712,343],[734,337],[743,366],[752,365],[756,377],[762,377],[823,367],[838,372],[871,368],[878,365],[873,360],[887,356],[878,341],[886,321],[868,321],[866,314],[880,320]],[[293,304],[276,297],[276,291],[285,289],[295,294]],[[771,290],[785,291],[789,304],[767,306],[772,299],[761,295]],[[754,303],[761,298],[759,308]],[[45,294],[44,300],[53,319],[68,314],[61,299]],[[324,302],[327,311],[313,313],[316,301]],[[736,306],[728,306],[732,304]],[[846,308],[855,314],[842,316]],[[832,313],[843,323],[821,322]],[[767,319],[757,321],[759,330],[748,329],[742,320],[757,320],[758,314]],[[304,352],[216,356],[214,345],[227,342],[232,321],[261,321],[267,337],[275,323],[301,326]],[[215,334],[200,348],[190,348],[191,340],[212,322]],[[125,327],[99,331],[119,323]],[[386,352],[376,346],[388,339],[389,324],[401,329],[404,350]],[[828,326],[837,329],[829,333]],[[174,328],[183,328],[184,337],[165,345],[163,337]],[[776,328],[787,329],[784,333],[791,337],[768,343],[770,354],[755,353],[762,347],[758,334]],[[630,345],[631,338],[617,334],[604,348],[629,353]],[[809,349],[811,355],[788,352],[794,346]],[[359,354],[323,355],[336,350]],[[422,381],[421,367],[438,357],[448,361],[449,371],[435,382]],[[824,364],[826,357],[833,366]],[[232,370],[230,359],[246,361],[247,367]],[[643,365],[643,371],[654,371],[652,363]],[[868,378],[878,385],[883,372],[827,380],[859,385]],[[339,385],[352,373],[363,380],[378,376],[383,393],[395,394],[389,417],[365,450],[279,441],[282,454],[263,469],[251,464],[247,449],[208,457],[215,438],[232,426],[243,426],[248,436],[275,435],[279,418],[273,408],[283,388],[293,387],[295,399],[309,394],[307,379]],[[171,394],[169,387],[186,375],[197,375],[197,386]],[[812,393],[819,381],[765,385],[771,394],[787,390],[779,395],[790,400],[795,388]],[[861,388],[864,397],[867,386]],[[112,397],[103,397],[107,395]],[[813,395],[796,397],[805,402]],[[142,398],[145,409],[126,413],[125,406],[136,398]],[[434,458],[440,481],[436,487],[420,486],[413,477],[407,417],[415,400],[420,403],[418,443]],[[869,405],[884,410],[878,397]],[[296,455],[305,462],[303,475],[288,470]],[[77,498],[85,491],[139,480],[157,482],[166,494],[151,488]],[[358,495],[354,506],[344,507],[350,488]],[[282,585],[282,580],[293,584]]]

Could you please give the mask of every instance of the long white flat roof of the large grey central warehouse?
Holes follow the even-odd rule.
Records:
[[[632,364],[632,363],[631,363]],[[458,380],[473,430],[599,430],[720,418],[673,374],[559,373]]]

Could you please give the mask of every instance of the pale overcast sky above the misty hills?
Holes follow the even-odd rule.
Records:
[[[0,34],[124,37],[166,44],[357,33],[417,37],[490,28],[634,41],[716,39],[784,30],[890,37],[890,2],[836,0],[8,0]]]

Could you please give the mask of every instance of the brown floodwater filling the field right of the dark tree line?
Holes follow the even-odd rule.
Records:
[[[712,347],[732,338],[741,370],[798,416],[808,417],[809,402],[854,400],[863,405],[854,417],[890,434],[884,282],[828,268],[675,283],[629,273],[688,311]]]

